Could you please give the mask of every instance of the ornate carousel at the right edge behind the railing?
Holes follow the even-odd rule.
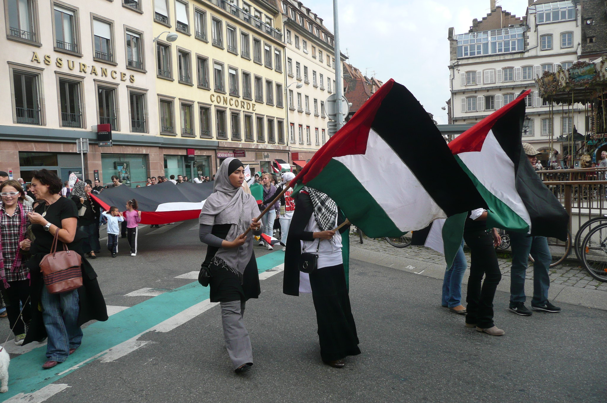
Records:
[[[536,80],[541,99],[554,112],[572,116],[574,107],[585,111],[586,133],[572,125],[571,133],[549,137],[549,149],[562,144],[566,168],[590,168],[592,161],[600,160],[607,151],[607,55],[593,62],[578,61],[568,69],[558,67],[556,72],[544,72]],[[554,125],[553,125],[554,126]]]

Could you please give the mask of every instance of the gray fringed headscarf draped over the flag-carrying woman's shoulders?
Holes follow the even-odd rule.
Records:
[[[228,166],[235,158],[226,158],[215,175],[213,193],[206,199],[200,211],[198,223],[205,225],[232,224],[226,240],[232,241],[246,231],[251,220],[259,214],[255,198],[243,191],[242,186],[234,188],[229,181]],[[242,281],[242,274],[253,254],[253,234],[249,232],[246,242],[238,248],[219,248],[212,263],[236,273]]]

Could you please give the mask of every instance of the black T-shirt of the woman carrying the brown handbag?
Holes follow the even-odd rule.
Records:
[[[38,214],[44,214],[46,210],[46,214],[44,218],[51,224],[61,227],[61,220],[64,218],[75,217],[78,218],[78,209],[76,209],[76,203],[72,202],[67,197],[59,197],[55,203],[49,206],[45,206],[44,203],[39,203],[34,209]],[[49,253],[50,248],[53,246],[53,234],[50,231],[44,231],[44,226],[40,224],[32,224],[32,232],[36,237],[34,242],[32,243],[32,254],[36,253]],[[76,246],[80,246],[80,239],[78,238],[78,234],[76,233],[76,237],[74,238],[74,242],[69,244],[70,249],[74,249],[75,251],[79,251]],[[59,243],[57,245],[57,250],[63,249],[63,245]]]

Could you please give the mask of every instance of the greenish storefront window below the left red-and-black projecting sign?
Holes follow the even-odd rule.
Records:
[[[148,180],[148,164],[144,155],[101,154],[101,169],[103,186],[112,184],[112,175],[131,188],[145,186]]]

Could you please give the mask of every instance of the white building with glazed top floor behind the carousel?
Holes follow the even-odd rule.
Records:
[[[582,52],[582,17],[578,1],[529,0],[526,16],[517,18],[490,1],[491,13],[473,20],[469,32],[450,41],[450,124],[480,121],[532,89],[526,98],[528,125],[523,140],[542,151],[545,164],[553,150],[574,154],[566,141],[586,128],[582,104],[546,103],[535,79],[543,72],[568,69]],[[575,137],[574,137],[575,138]],[[574,146],[575,147],[575,146]]]

